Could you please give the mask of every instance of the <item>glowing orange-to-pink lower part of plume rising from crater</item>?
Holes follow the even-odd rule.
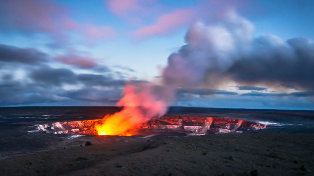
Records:
[[[124,94],[117,103],[118,106],[124,106],[123,110],[104,117],[103,123],[95,126],[99,135],[133,135],[137,126],[166,113],[175,92],[170,86],[130,82],[124,88]]]

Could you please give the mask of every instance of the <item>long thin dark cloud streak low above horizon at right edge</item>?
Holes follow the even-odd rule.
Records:
[[[241,96],[296,96],[296,97],[309,97],[314,96],[314,91],[301,91],[292,93],[265,93],[258,91],[251,91],[249,93],[243,93]]]

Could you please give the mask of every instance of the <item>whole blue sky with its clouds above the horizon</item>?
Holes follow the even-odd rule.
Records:
[[[313,6],[1,0],[0,106],[112,106],[150,83],[172,106],[314,110]]]

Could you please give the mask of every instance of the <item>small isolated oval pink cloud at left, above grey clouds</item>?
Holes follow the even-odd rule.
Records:
[[[56,60],[63,64],[78,66],[83,69],[91,69],[98,66],[95,59],[76,55],[60,56]]]

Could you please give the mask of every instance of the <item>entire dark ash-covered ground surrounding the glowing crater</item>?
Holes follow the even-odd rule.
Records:
[[[0,107],[3,175],[311,175],[314,112],[171,107],[165,115],[262,123],[254,132],[97,136],[32,132],[36,125],[101,119],[119,107]],[[92,146],[85,146],[90,141]],[[82,146],[80,146],[82,145]]]

